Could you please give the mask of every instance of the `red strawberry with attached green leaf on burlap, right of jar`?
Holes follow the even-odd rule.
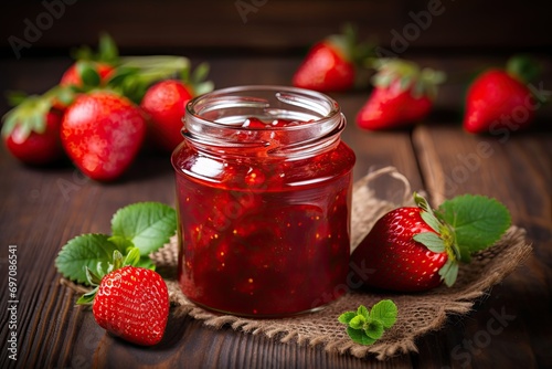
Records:
[[[380,218],[351,260],[373,271],[367,287],[421,292],[443,282],[454,285],[460,262],[492,245],[510,225],[508,210],[495,199],[460,196],[433,211],[414,194],[417,207],[394,209]]]

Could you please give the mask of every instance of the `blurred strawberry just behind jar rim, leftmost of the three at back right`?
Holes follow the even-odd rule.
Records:
[[[295,72],[296,87],[318,92],[343,92],[361,83],[363,61],[373,53],[373,46],[359,43],[350,24],[341,34],[315,43]]]

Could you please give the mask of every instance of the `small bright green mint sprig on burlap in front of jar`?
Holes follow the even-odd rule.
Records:
[[[391,299],[383,299],[369,310],[360,305],[357,312],[346,312],[338,317],[339,323],[347,325],[347,334],[360,345],[372,345],[380,339],[386,329],[396,321],[396,305]]]

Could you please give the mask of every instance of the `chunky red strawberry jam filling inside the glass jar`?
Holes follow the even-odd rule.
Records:
[[[300,123],[245,120],[248,129]],[[179,282],[208,308],[245,316],[315,309],[344,293],[354,154],[216,158],[182,145]]]

